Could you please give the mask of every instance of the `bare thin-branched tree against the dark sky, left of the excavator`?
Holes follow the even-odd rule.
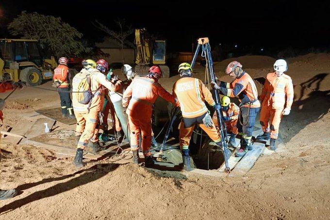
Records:
[[[95,22],[96,22],[96,24],[94,24],[95,27],[97,27],[101,31],[108,33],[110,36],[112,36],[121,43],[121,59],[123,63],[125,63],[124,42],[125,39],[134,32],[134,30],[132,29],[132,25],[126,25],[125,19],[117,18],[117,20],[115,20],[115,23],[119,26],[120,31],[112,31],[107,26],[100,23],[98,20],[95,20]]]

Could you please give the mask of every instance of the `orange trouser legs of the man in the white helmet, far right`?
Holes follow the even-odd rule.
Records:
[[[260,125],[263,127],[264,132],[270,130],[270,137],[273,139],[277,139],[279,136],[282,111],[283,109],[272,109],[270,106],[263,106],[260,112]]]

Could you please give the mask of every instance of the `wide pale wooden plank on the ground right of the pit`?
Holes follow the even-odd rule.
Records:
[[[264,149],[264,143],[253,143],[253,150],[248,151],[246,155],[239,161],[236,167],[229,174],[230,176],[243,176],[245,175],[254,165],[261,152]]]

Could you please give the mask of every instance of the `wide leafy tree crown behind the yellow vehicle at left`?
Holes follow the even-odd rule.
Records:
[[[41,44],[49,46],[57,57],[79,56],[91,50],[91,47],[85,47],[80,41],[82,33],[63,22],[60,17],[22,11],[9,23],[8,30],[15,36],[21,35],[23,39],[39,40]]]

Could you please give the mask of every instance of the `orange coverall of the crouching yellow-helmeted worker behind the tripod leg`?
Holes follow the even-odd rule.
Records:
[[[239,115],[238,106],[232,102],[229,104],[229,109],[227,111],[222,110],[222,112],[223,112],[223,116],[228,116],[231,118],[230,121],[225,122],[227,131],[231,132],[232,134],[237,135],[238,128],[237,128],[236,124],[237,124],[237,119],[238,119],[238,115]],[[214,111],[212,121],[214,122],[214,125],[216,126],[216,128],[219,129],[218,117],[216,116],[216,111]]]

